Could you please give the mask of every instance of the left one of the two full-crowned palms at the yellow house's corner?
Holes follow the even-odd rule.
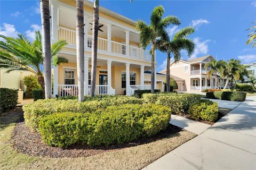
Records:
[[[136,24],[136,29],[140,32],[141,47],[146,49],[148,45],[151,45],[151,93],[154,93],[155,88],[155,51],[159,46],[159,43],[169,40],[169,36],[165,28],[170,24],[180,24],[180,20],[176,16],[166,16],[165,18],[162,18],[163,14],[163,6],[157,6],[151,14],[149,25],[141,20],[138,20]]]

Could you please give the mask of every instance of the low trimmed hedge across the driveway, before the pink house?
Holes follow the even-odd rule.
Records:
[[[231,101],[244,101],[246,98],[246,94],[246,92],[242,91],[214,91],[207,92],[206,98]]]

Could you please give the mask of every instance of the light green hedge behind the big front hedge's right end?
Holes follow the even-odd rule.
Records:
[[[198,103],[202,95],[197,94],[143,94],[142,99],[146,104],[168,106],[172,114],[181,114],[188,111],[189,107]]]

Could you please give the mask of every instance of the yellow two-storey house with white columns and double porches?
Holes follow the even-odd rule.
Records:
[[[69,60],[54,67],[53,94],[77,95],[76,1],[50,1],[52,41],[65,39],[68,45],[59,55]],[[84,1],[85,94],[91,88],[93,3]],[[132,95],[137,89],[150,89],[151,55],[140,48],[135,21],[100,7],[98,62],[95,94]],[[146,71],[146,72],[145,72]],[[129,75],[129,76],[126,76]],[[164,76],[155,74],[155,89],[163,90]]]

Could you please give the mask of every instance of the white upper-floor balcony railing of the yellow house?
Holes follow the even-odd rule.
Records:
[[[89,49],[92,48],[92,36],[87,36],[87,47]],[[58,38],[59,39],[65,39],[69,45],[76,45],[76,31],[72,29],[68,29],[65,27],[59,27],[58,31]],[[108,51],[108,40],[105,38],[98,37],[98,50],[101,50],[103,52]],[[130,50],[130,57],[132,58],[138,58],[141,60],[148,60],[151,61],[151,55],[149,53],[149,50],[143,50],[142,48],[129,46]],[[111,41],[111,52],[115,54],[120,55],[126,55],[126,44],[118,43],[116,41]]]

